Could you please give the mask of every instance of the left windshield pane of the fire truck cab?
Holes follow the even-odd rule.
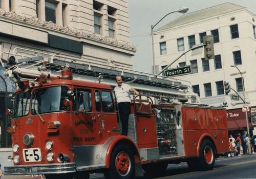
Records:
[[[31,101],[31,91],[18,93],[14,102],[14,117],[28,115]]]

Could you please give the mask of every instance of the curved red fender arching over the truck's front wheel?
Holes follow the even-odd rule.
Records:
[[[130,137],[127,137],[125,135],[118,135],[115,138],[113,138],[113,140],[110,142],[110,144],[108,146],[108,149],[106,149],[106,159],[105,159],[106,168],[110,168],[110,156],[111,156],[113,148],[115,147],[116,143],[118,143],[119,141],[122,141],[122,140],[131,142],[134,145],[134,147],[136,148],[138,155],[139,155],[138,148],[137,148],[136,144],[134,143],[134,141]],[[136,156],[137,155],[135,155],[135,158],[134,158],[135,163],[140,163],[140,156],[137,156],[137,157]]]

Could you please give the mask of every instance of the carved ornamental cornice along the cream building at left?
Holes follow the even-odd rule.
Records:
[[[89,38],[89,39],[93,39],[93,40],[98,41],[98,42],[103,42],[103,43],[107,43],[107,44],[110,44],[110,45],[115,45],[115,46],[118,46],[118,47],[121,47],[121,48],[132,50],[134,52],[137,50],[137,47],[134,46],[134,45],[131,45],[129,42],[120,42],[120,41],[118,41],[117,39],[114,39],[114,38],[98,35],[98,34],[91,33],[91,32],[85,32],[83,29],[74,30],[74,29],[71,29],[69,27],[59,26],[57,24],[54,24],[51,21],[50,22],[39,21],[36,17],[31,17],[30,18],[30,17],[27,17],[25,15],[18,15],[18,14],[16,14],[15,11],[7,12],[5,10],[0,10],[0,15],[15,19],[16,21],[22,21],[22,22],[34,24],[34,25],[37,25],[37,26],[41,26],[43,28],[49,28],[49,29],[52,29],[52,30],[68,33],[70,35],[75,35],[77,37]]]

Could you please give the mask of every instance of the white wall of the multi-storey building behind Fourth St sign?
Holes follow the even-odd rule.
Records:
[[[234,21],[230,21],[230,18],[234,17]],[[241,74],[236,68],[230,67],[234,65],[233,51],[241,50],[242,65],[237,67],[243,73],[246,101],[250,103],[250,106],[256,106],[256,78],[254,77],[254,69],[256,69],[256,40],[253,36],[253,14],[243,9],[235,11],[233,13],[227,13],[207,19],[202,19],[197,22],[191,22],[186,25],[173,27],[167,30],[155,32],[154,48],[156,65],[159,65],[159,71],[161,71],[161,65],[172,63],[179,55],[188,50],[188,36],[195,35],[196,44],[199,44],[199,33],[206,32],[207,35],[211,34],[211,30],[219,30],[220,42],[214,44],[215,55],[221,55],[222,69],[214,69],[214,59],[209,60],[210,70],[203,72],[202,60],[204,52],[201,54],[191,56],[191,52],[183,55],[176,63],[172,65],[172,68],[176,68],[180,62],[186,62],[186,65],[190,65],[190,60],[197,59],[198,73],[178,76],[175,78],[184,79],[191,82],[191,85],[199,85],[201,101],[209,105],[220,106],[223,101],[228,102],[228,109],[238,108],[242,106],[242,101],[233,101],[230,95],[218,95],[216,83],[218,81],[227,81],[231,87],[236,90],[236,80],[234,78],[241,77]],[[238,24],[239,38],[231,39],[230,26]],[[164,38],[160,38],[163,35]],[[184,37],[185,50],[178,52],[177,39]],[[159,43],[166,42],[167,54],[160,55]],[[211,83],[211,97],[204,97],[204,84]],[[231,91],[230,94],[235,94]],[[242,92],[239,94],[243,97]]]

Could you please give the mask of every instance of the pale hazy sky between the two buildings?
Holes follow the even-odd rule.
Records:
[[[151,73],[151,25],[155,25],[163,16],[181,7],[189,8],[189,13],[224,3],[246,7],[256,14],[256,0],[128,0],[131,44],[137,46],[137,52],[132,57],[133,69]],[[154,30],[181,15],[183,14],[167,15]]]

